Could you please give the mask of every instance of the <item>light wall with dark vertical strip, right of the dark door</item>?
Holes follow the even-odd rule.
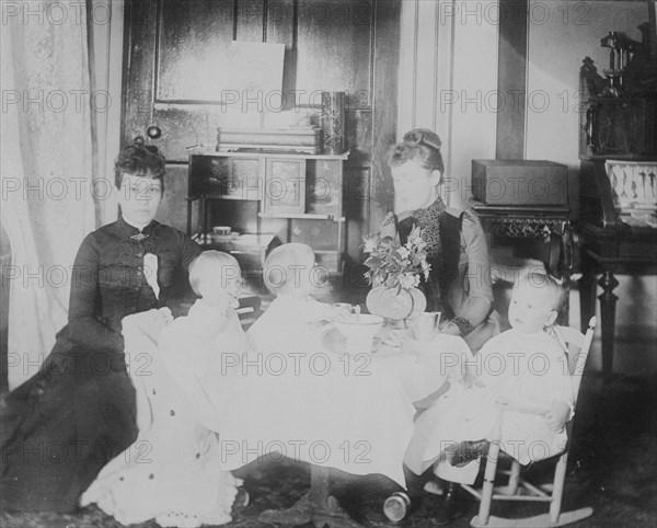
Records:
[[[639,39],[636,26],[655,9],[654,1],[643,0],[405,0],[397,137],[414,127],[440,135],[446,175],[456,177],[449,203],[457,206],[470,195],[473,158],[565,163],[576,218],[581,60],[590,56],[604,68],[609,50],[600,39],[610,31]],[[614,369],[654,374],[657,279],[621,276],[619,282]],[[570,296],[574,326],[579,325],[576,294]],[[599,333],[598,326],[597,340]],[[598,342],[591,360],[599,369]]]

